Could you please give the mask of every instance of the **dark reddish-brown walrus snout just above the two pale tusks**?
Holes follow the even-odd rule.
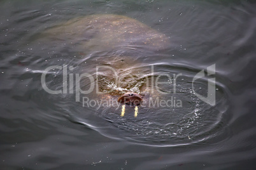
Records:
[[[140,105],[143,96],[138,93],[125,93],[124,95],[118,98],[119,103],[125,103],[127,105]]]

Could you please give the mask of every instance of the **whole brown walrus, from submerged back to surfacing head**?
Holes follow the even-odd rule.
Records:
[[[72,46],[78,51],[83,51],[85,56],[96,51],[108,51],[108,53],[115,51],[113,53],[115,56],[109,57],[108,62],[102,61],[101,65],[111,65],[119,75],[126,74],[129,70],[128,67],[134,65],[134,60],[131,60],[132,56],[143,55],[150,51],[160,51],[168,48],[170,44],[169,37],[148,27],[148,25],[127,16],[112,14],[74,18],[66,23],[51,27],[44,34],[54,40],[63,41],[63,44],[68,47]],[[117,59],[120,56],[124,56],[124,59]],[[95,65],[91,65],[87,70],[92,70],[94,67]],[[104,78],[100,77],[102,79],[97,82],[101,91],[111,88],[109,86],[111,81],[106,84],[106,80],[110,80],[112,74],[108,71],[102,72]],[[143,96],[139,95],[139,91],[133,91],[131,84],[131,81],[130,84],[124,86],[118,84],[121,89],[125,90],[108,91],[113,96],[121,93],[118,102],[134,105],[138,110],[137,106],[143,100]],[[132,86],[134,84],[136,83],[133,83]]]

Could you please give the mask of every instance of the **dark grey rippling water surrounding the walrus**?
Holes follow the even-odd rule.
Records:
[[[1,1],[1,169],[255,169],[255,9],[254,1]],[[81,46],[79,32],[72,39],[46,34],[94,14],[129,16],[171,43],[159,51],[108,50],[102,41]],[[96,79],[96,67],[107,65],[128,83],[115,86],[102,70],[101,88],[117,91],[80,93],[78,102],[76,87],[57,95],[43,89],[41,75],[53,65],[62,67],[46,75],[55,91],[64,87],[65,65],[74,80],[83,73]],[[194,81],[201,70],[206,76]],[[178,74],[175,85],[158,86],[165,94],[155,89],[159,75]],[[84,90],[89,80],[81,81]],[[97,105],[127,90],[173,105],[141,106],[138,117],[134,107],[121,117],[120,105]],[[214,104],[196,95],[212,93]],[[83,106],[83,97],[92,103]]]

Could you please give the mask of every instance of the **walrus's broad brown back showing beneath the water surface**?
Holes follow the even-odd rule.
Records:
[[[52,27],[47,34],[89,49],[146,49],[157,51],[169,45],[169,38],[138,20],[121,15],[89,15]]]

